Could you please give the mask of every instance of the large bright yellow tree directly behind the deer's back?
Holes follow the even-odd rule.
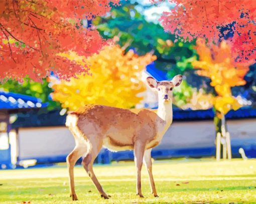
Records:
[[[81,65],[86,64],[91,75],[76,75],[68,82],[51,78],[53,99],[69,110],[76,110],[85,104],[134,107],[143,99],[138,94],[146,90],[141,80],[142,71],[156,60],[152,54],[138,56],[133,51],[124,53],[118,45],[106,46],[99,54],[89,58],[73,52],[61,55]]]

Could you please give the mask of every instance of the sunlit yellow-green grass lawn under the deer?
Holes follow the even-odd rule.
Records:
[[[145,198],[136,196],[134,163],[95,165],[104,200],[80,166],[75,167],[78,201],[75,203],[256,203],[256,160],[155,161],[153,173],[158,198],[150,193],[146,168],[142,170]],[[65,166],[1,170],[1,203],[71,203]]]

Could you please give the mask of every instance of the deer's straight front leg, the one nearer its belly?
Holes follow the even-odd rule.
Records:
[[[141,184],[141,170],[142,170],[142,163],[143,163],[143,155],[145,151],[145,143],[142,141],[136,141],[134,146],[134,160],[137,169],[137,195],[140,197],[144,197],[142,194],[142,184]]]

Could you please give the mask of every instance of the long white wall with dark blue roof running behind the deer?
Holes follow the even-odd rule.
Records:
[[[213,157],[215,156],[214,113],[209,110],[173,111],[173,124],[162,142],[152,150],[153,158]],[[18,160],[36,159],[38,163],[64,162],[75,145],[67,127],[66,116],[58,111],[38,114],[36,111],[19,113],[13,127],[19,133]],[[30,120],[28,120],[28,116]],[[26,118],[26,119],[24,119]],[[226,115],[231,135],[232,156],[240,157],[243,148],[247,157],[256,157],[256,110],[239,109]],[[109,152],[102,150],[98,162],[131,160],[133,151]]]

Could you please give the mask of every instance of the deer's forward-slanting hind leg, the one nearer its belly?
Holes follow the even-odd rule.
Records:
[[[88,152],[86,156],[83,158],[82,165],[86,172],[88,173],[89,177],[91,178],[92,182],[96,186],[97,190],[99,191],[101,197],[108,199],[108,195],[104,192],[102,186],[100,185],[97,177],[93,172],[93,162],[97,157],[100,149],[102,147],[102,138],[98,136],[93,136],[92,139],[88,141]]]

